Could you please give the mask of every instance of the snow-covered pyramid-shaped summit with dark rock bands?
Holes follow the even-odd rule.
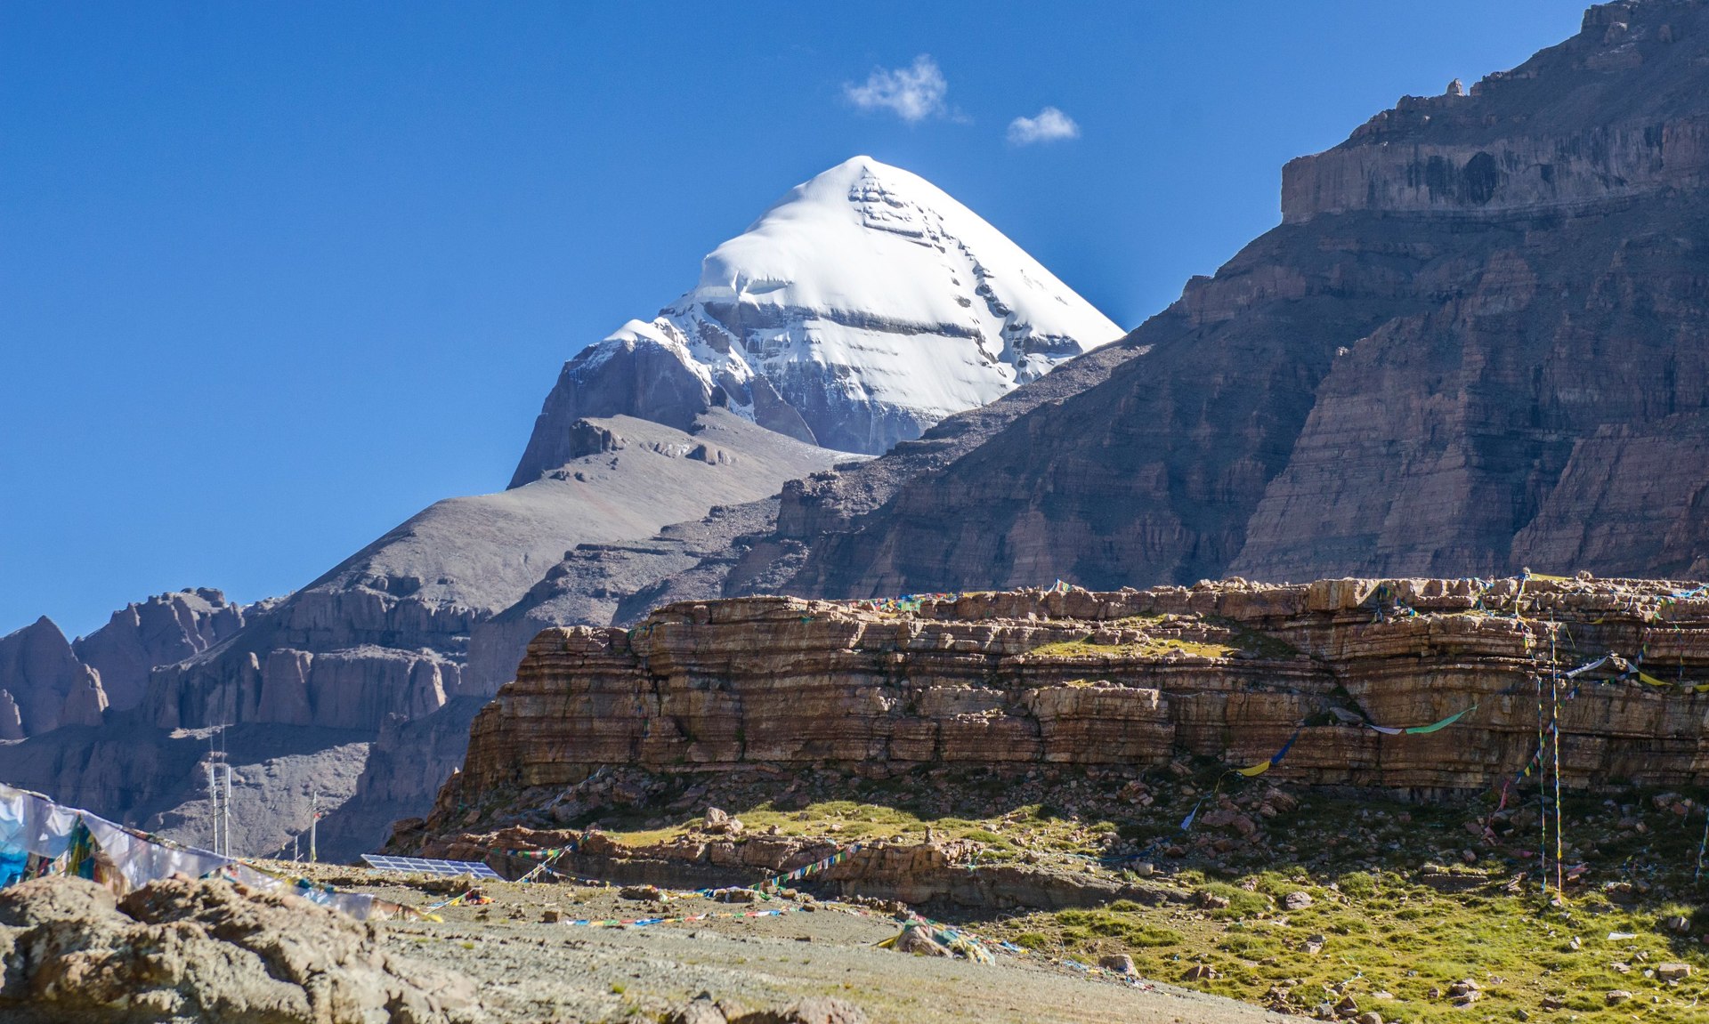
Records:
[[[938,186],[854,157],[713,250],[656,318],[566,364],[514,482],[555,467],[542,433],[573,412],[675,424],[697,391],[803,441],[880,453],[1121,333]]]

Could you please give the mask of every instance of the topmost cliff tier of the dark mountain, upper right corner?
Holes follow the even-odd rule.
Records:
[[[1511,72],[1407,96],[1342,145],[1289,162],[1282,219],[1511,214],[1702,188],[1709,116],[1680,72],[1706,53],[1695,2],[1600,3],[1577,36]]]

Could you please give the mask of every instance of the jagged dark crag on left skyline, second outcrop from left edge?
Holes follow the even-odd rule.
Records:
[[[77,638],[72,650],[101,674],[113,709],[125,711],[142,703],[152,668],[222,643],[243,629],[244,612],[219,590],[174,590],[113,612],[106,626]]]

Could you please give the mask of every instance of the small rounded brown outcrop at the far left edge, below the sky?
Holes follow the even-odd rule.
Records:
[[[101,721],[101,674],[77,660],[65,634],[43,615],[0,636],[0,739]]]

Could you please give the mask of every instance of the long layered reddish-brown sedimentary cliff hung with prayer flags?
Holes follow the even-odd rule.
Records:
[[[1702,783],[1709,694],[1694,684],[1709,680],[1709,595],[1682,586],[1328,580],[971,593],[918,610],[684,602],[632,631],[542,633],[475,718],[429,831],[545,803],[605,766],[1249,766],[1295,732],[1271,778],[1482,788],[1535,752],[1538,680],[1547,691],[1608,653],[1560,682],[1564,783]],[[1424,735],[1367,728],[1461,711]]]

